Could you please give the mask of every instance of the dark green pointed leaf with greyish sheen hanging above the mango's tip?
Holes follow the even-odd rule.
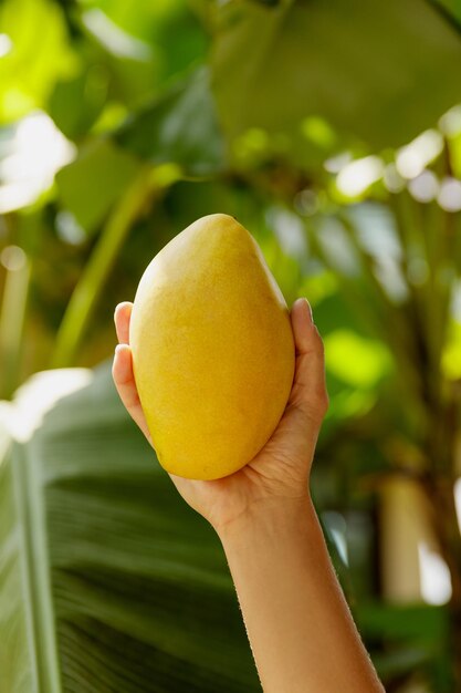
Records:
[[[224,144],[208,71],[196,70],[176,82],[151,106],[135,114],[115,137],[153,164],[175,164],[187,176],[223,170]]]

